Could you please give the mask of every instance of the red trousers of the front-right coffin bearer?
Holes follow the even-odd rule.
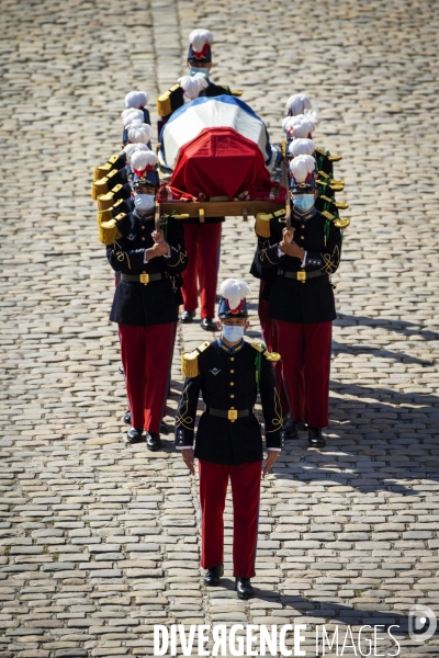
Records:
[[[282,377],[296,422],[311,428],[328,424],[330,342],[333,322],[282,322],[277,320]]]

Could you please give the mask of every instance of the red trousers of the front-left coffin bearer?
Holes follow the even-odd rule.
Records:
[[[119,325],[133,428],[158,432],[169,389],[176,322]]]

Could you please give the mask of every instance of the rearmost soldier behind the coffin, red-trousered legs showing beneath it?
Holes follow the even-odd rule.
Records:
[[[215,84],[210,79],[212,68],[212,32],[193,30],[189,36],[188,68],[191,75],[203,73],[207,86],[200,92],[203,97],[230,95],[228,87]],[[184,104],[184,89],[176,84],[157,99],[157,110],[164,125],[176,110]],[[234,92],[239,93],[239,92]],[[200,290],[200,326],[206,331],[215,331],[215,298],[219,263],[221,225],[224,217],[206,217],[184,222],[184,241],[188,250],[188,268],[183,274],[183,313],[181,322],[192,322],[198,308]]]

